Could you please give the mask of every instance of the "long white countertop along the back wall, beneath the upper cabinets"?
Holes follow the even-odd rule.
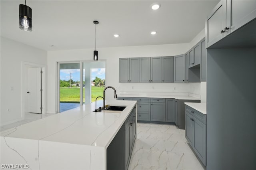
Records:
[[[190,95],[189,93],[148,93],[148,94],[119,94],[118,97],[148,97],[148,98],[169,98],[178,100],[200,100],[198,95]]]

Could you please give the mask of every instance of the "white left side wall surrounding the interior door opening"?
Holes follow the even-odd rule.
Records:
[[[1,37],[1,126],[22,119],[22,61],[46,65],[47,51]]]

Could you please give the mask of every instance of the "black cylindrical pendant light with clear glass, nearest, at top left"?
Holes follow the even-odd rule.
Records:
[[[20,4],[20,30],[32,31],[32,9],[26,5]]]

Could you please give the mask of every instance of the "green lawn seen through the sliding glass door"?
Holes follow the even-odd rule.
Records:
[[[96,97],[103,96],[104,87],[92,87],[92,102]],[[98,100],[102,100],[99,98]],[[60,88],[60,102],[79,103],[80,102],[80,87]]]

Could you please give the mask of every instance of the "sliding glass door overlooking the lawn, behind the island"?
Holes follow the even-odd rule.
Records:
[[[57,64],[57,112],[89,104],[94,102],[96,97],[103,96],[105,61],[58,62]]]

